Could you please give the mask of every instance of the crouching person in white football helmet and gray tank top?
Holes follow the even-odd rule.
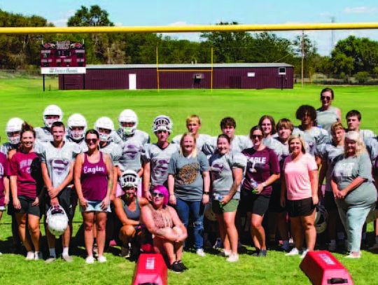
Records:
[[[144,231],[140,222],[141,207],[148,204],[144,197],[138,197],[139,174],[132,169],[127,169],[120,177],[122,193],[116,195],[114,207],[118,217],[118,237],[122,242],[121,256],[137,258],[139,247],[144,240]],[[118,194],[118,193],[117,193]]]

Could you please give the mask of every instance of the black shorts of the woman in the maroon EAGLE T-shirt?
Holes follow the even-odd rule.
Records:
[[[264,216],[269,207],[270,195],[253,194],[250,190],[241,190],[239,210]]]

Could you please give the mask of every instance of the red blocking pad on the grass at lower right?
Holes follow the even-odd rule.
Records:
[[[329,251],[309,251],[300,269],[314,285],[353,284],[348,270]]]

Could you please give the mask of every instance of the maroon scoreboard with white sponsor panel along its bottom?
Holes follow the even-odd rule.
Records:
[[[85,44],[42,43],[41,74],[85,74]]]

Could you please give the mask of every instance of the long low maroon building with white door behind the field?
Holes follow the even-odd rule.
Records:
[[[86,74],[59,75],[59,89],[211,88],[211,64],[87,65]],[[214,89],[293,88],[293,65],[286,63],[214,64]]]

